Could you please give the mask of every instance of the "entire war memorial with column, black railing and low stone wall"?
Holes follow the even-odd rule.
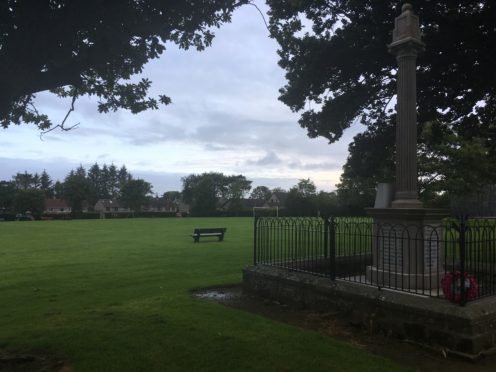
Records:
[[[363,218],[256,218],[243,286],[477,358],[496,348],[496,229],[419,200],[416,63],[424,48],[405,4],[387,46],[398,63],[395,184],[378,186]]]

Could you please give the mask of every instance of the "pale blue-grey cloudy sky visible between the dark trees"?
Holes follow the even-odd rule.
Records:
[[[289,188],[310,178],[320,190],[333,190],[359,128],[331,146],[308,138],[299,115],[277,99],[285,80],[276,50],[257,10],[242,7],[204,52],[168,45],[146,65],[151,94],[170,96],[171,105],[138,115],[98,114],[96,100],[85,98],[76,102],[68,124],[80,125],[70,132],[40,139],[28,125],[1,130],[0,179],[43,169],[63,179],[79,164],[98,162],[125,164],[158,193],[180,190],[184,175],[209,171],[243,174],[254,186]],[[43,93],[37,107],[60,122],[69,102]]]

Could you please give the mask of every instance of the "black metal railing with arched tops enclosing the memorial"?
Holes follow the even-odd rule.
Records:
[[[254,264],[464,305],[496,294],[496,221],[435,225],[371,218],[255,218]]]

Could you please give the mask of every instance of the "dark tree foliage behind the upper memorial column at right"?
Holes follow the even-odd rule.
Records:
[[[340,188],[393,177],[387,171],[394,157],[394,110],[388,104],[394,102],[397,65],[386,45],[401,3],[269,0],[268,4],[271,33],[280,44],[279,64],[286,70],[280,99],[301,112],[299,123],[308,135],[333,143],[358,121],[367,127],[350,146]],[[427,46],[417,69],[419,134],[427,125],[436,126],[436,141],[421,140],[421,186],[446,190],[473,164],[474,138],[482,164],[496,160],[496,75],[487,50],[496,42],[496,4],[419,0],[414,7]],[[444,161],[440,168],[436,157]],[[487,167],[470,171],[478,173],[473,180],[464,179],[466,183],[496,180]]]

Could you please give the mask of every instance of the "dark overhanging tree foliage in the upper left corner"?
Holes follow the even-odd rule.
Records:
[[[29,1],[0,5],[0,125],[54,124],[35,105],[50,90],[74,102],[98,98],[98,111],[138,113],[170,103],[149,97],[151,81],[130,81],[172,42],[203,50],[212,28],[229,22],[244,1]],[[64,129],[64,122],[58,124]]]

